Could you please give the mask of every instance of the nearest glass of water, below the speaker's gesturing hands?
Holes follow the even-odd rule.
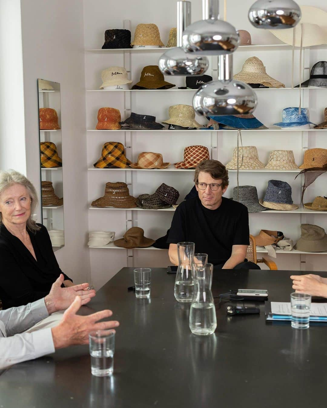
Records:
[[[89,334],[91,373],[96,377],[113,374],[115,354],[115,331],[98,330]]]

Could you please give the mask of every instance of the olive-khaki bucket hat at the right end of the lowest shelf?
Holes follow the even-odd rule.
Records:
[[[327,235],[324,228],[318,225],[301,224],[301,237],[294,249],[303,252],[327,251]]]

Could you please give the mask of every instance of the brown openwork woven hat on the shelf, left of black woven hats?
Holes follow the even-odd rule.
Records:
[[[104,196],[93,201],[94,207],[135,208],[136,198],[129,194],[126,183],[106,183]]]

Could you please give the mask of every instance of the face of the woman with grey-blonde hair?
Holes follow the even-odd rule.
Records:
[[[6,225],[26,224],[31,215],[31,197],[25,186],[13,184],[0,194],[0,212]]]

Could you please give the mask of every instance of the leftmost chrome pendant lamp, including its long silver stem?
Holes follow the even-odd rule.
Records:
[[[177,2],[177,47],[159,58],[158,66],[165,75],[203,75],[209,67],[208,58],[186,53],[181,47],[183,30],[191,23],[191,3]]]

